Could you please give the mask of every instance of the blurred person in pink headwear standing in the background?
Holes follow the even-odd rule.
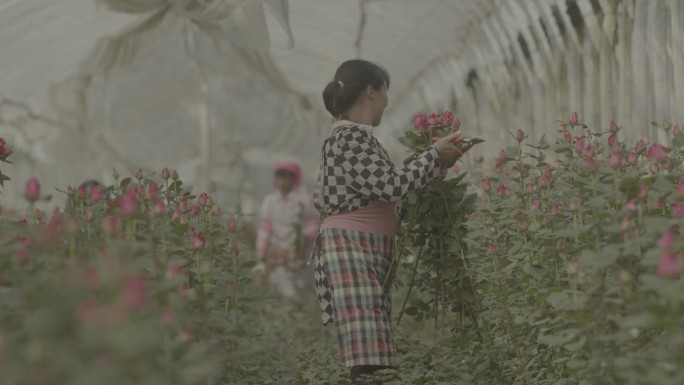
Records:
[[[255,252],[268,282],[284,297],[295,298],[312,275],[305,272],[306,255],[318,232],[319,220],[311,199],[299,191],[299,164],[277,162],[273,172],[276,191],[261,204]]]

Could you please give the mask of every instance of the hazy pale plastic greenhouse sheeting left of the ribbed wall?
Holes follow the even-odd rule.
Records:
[[[278,158],[312,178],[330,122],[320,92],[343,60],[389,70],[378,135],[391,138],[423,108],[409,96],[421,76],[460,55],[494,3],[0,0],[0,134],[18,150],[3,198],[21,177],[111,181],[112,166],[175,166],[225,201],[240,181],[268,189]]]

